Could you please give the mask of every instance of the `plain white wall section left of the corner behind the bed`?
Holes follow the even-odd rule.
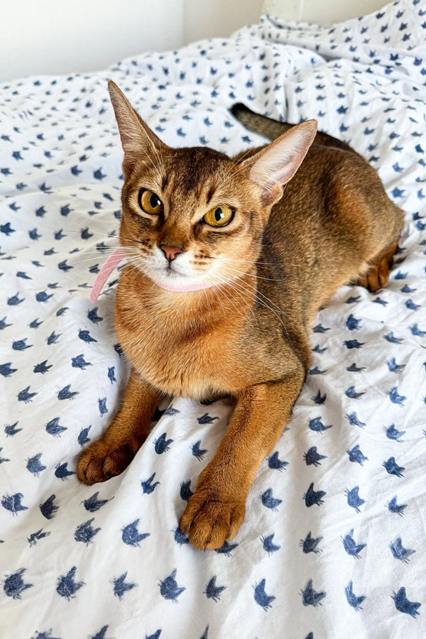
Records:
[[[183,0],[0,0],[0,81],[178,47],[183,10]]]

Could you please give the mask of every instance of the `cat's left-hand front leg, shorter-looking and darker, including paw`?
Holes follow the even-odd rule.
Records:
[[[80,481],[96,484],[124,471],[145,441],[159,403],[160,395],[132,368],[121,409],[107,432],[80,455]]]

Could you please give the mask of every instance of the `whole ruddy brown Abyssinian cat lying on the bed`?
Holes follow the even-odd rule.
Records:
[[[77,474],[94,484],[121,473],[165,395],[230,395],[226,435],[180,519],[195,547],[218,548],[239,530],[258,466],[290,420],[317,310],[343,284],[386,285],[403,212],[366,160],[313,120],[290,126],[235,107],[278,137],[229,158],[166,146],[113,82],[109,92],[128,261],[114,322],[131,373]]]

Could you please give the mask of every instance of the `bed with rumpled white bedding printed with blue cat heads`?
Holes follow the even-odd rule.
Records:
[[[172,146],[263,143],[229,108],[351,143],[406,212],[386,289],[343,287],[238,535],[178,528],[229,402],[165,402],[129,469],[80,484],[129,366],[114,336],[121,147],[111,78]],[[331,28],[263,16],[226,40],[0,92],[0,636],[426,635],[426,1]],[[268,419],[268,415],[265,415]]]

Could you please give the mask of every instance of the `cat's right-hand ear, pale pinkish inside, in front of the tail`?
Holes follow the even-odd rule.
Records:
[[[263,202],[278,202],[283,187],[293,178],[317,133],[317,122],[296,124],[261,151],[244,160],[249,178],[261,188]]]

